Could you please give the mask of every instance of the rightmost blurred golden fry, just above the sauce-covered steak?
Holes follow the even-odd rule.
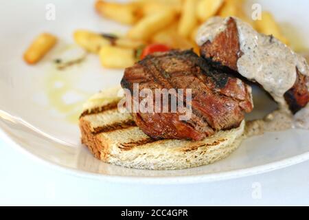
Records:
[[[279,25],[276,23],[270,12],[262,12],[262,20],[255,21],[255,25],[258,32],[267,35],[272,34],[275,38],[288,45],[288,39],[282,34]]]

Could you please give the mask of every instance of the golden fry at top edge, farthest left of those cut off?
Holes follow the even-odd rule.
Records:
[[[138,3],[111,3],[106,1],[96,1],[95,10],[102,16],[124,23],[133,25],[142,16]]]

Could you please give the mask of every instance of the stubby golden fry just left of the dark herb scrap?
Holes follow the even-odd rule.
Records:
[[[73,34],[74,41],[85,50],[98,54],[104,45],[110,45],[110,41],[104,39],[100,34],[87,30],[77,30]]]

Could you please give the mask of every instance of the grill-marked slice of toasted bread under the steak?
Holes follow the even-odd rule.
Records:
[[[244,122],[202,141],[154,140],[136,126],[130,113],[118,111],[119,89],[95,94],[80,116],[82,143],[104,162],[151,170],[190,168],[225,158],[242,142]]]

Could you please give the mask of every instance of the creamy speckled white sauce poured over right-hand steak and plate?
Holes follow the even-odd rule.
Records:
[[[284,99],[286,91],[295,84],[296,68],[301,74],[309,76],[306,59],[273,36],[259,34],[248,23],[234,19],[238,27],[240,50],[243,53],[238,58],[238,72],[245,78],[262,85],[279,104],[279,110],[266,118],[248,123],[251,133],[278,131],[292,127],[309,129],[309,105],[301,109],[293,118]],[[213,41],[220,32],[226,29],[227,21],[229,18],[209,19],[198,30],[196,43],[201,46],[207,41]]]

